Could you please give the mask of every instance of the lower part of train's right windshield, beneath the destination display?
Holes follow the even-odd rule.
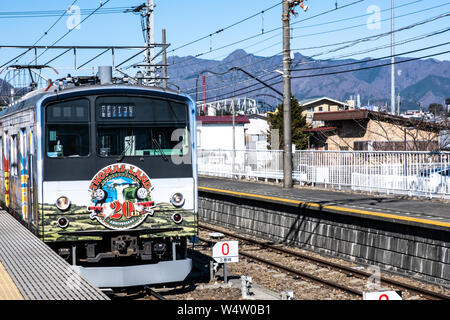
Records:
[[[97,154],[100,156],[185,155],[189,152],[186,126],[159,127],[111,126],[97,127]],[[184,142],[184,143],[183,143]]]

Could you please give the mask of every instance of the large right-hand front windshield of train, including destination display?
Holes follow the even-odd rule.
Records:
[[[188,107],[146,97],[96,101],[97,155],[167,156],[189,153]]]

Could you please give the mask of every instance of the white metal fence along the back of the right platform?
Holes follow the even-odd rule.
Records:
[[[198,150],[199,174],[283,179],[282,150]],[[450,152],[296,151],[294,181],[334,189],[450,199]]]

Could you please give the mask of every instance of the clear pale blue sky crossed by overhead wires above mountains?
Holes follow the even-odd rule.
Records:
[[[154,0],[155,42],[161,42],[161,30],[167,30],[170,43],[168,56],[198,56],[198,58],[222,60],[236,49],[244,49],[258,56],[272,56],[282,51],[281,1],[279,0]],[[57,23],[60,15],[36,16],[30,11],[66,10],[72,4],[82,13],[95,9],[103,3],[102,10],[116,13],[94,14],[88,18],[81,15],[79,28],[69,32],[68,26],[75,25],[74,14],[66,14]],[[144,0],[15,0],[0,2],[0,46],[1,45],[98,45],[98,46],[142,46],[144,38],[139,15],[124,13],[126,8],[142,4]],[[390,35],[371,38],[346,49],[357,39],[376,36],[391,30],[391,1],[389,0],[305,0],[309,6],[304,12],[291,17],[291,48],[315,59],[361,59],[390,55]],[[336,9],[336,6],[338,9]],[[395,28],[406,28],[395,34],[396,53],[440,45],[449,41],[450,16],[436,18],[450,13],[450,1],[445,0],[395,0]],[[253,17],[252,17],[253,16]],[[83,19],[85,19],[83,21]],[[246,21],[238,23],[244,19]],[[427,19],[436,20],[420,24]],[[55,24],[56,23],[56,24]],[[413,24],[419,25],[412,27]],[[53,28],[50,29],[50,27]],[[216,31],[224,29],[222,32]],[[48,31],[47,35],[45,32]],[[440,34],[433,33],[442,32]],[[211,35],[211,36],[209,36]],[[194,42],[197,39],[205,38]],[[247,39],[247,40],[246,40]],[[417,39],[416,41],[410,41]],[[407,42],[409,41],[409,42]],[[194,42],[193,44],[189,44]],[[236,43],[238,42],[238,43]],[[338,44],[344,42],[344,44]],[[233,43],[236,43],[232,45]],[[186,46],[185,46],[186,45]],[[339,49],[339,50],[337,50]],[[449,51],[450,45],[405,54],[421,57]],[[18,49],[0,49],[0,66],[23,52]],[[62,50],[38,52],[38,63],[44,64],[56,57]],[[101,53],[83,51],[77,53],[77,66]],[[115,53],[115,63],[131,57],[137,51],[120,50]],[[17,63],[31,63],[34,53],[22,56]],[[450,60],[450,53],[433,57]],[[139,55],[123,66],[143,60]],[[66,55],[54,60],[52,67],[60,73],[93,73],[98,65],[110,65],[112,56],[105,53],[82,70],[74,68],[74,56]],[[169,63],[170,63],[169,58]],[[15,61],[14,61],[15,62]],[[1,69],[0,69],[1,70]],[[127,69],[129,70],[129,69]],[[128,71],[127,71],[128,72]],[[135,72],[130,70],[130,72]],[[46,71],[51,76],[52,71]],[[0,74],[3,77],[4,74]],[[56,75],[53,75],[56,77]]]

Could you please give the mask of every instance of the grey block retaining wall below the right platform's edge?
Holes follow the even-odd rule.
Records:
[[[199,217],[450,287],[450,232],[199,192]]]

